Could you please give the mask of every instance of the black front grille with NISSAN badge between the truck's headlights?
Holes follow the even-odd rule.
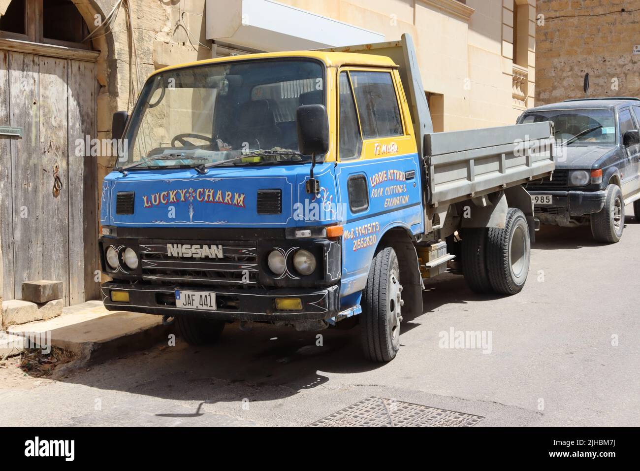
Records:
[[[184,256],[188,251],[202,252],[204,246],[215,256]],[[140,242],[140,258],[142,278],[154,283],[253,286],[258,282],[255,242],[148,240]]]

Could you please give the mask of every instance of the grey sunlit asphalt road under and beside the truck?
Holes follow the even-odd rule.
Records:
[[[544,227],[524,290],[470,292],[445,274],[404,318],[401,350],[364,361],[359,328],[227,327],[212,347],[157,346],[51,381],[0,384],[4,426],[303,426],[370,396],[484,417],[477,426],[640,425],[640,224],[618,244]],[[442,348],[441,333],[484,333]],[[489,343],[489,335],[491,342]],[[452,346],[456,346],[453,343]]]

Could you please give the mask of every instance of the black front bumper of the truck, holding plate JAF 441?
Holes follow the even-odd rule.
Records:
[[[177,308],[175,290],[216,293],[215,311]],[[324,289],[258,288],[234,290],[212,286],[161,286],[137,283],[102,283],[102,301],[109,311],[133,311],[156,315],[195,315],[218,320],[323,320],[335,317],[340,310],[340,286]],[[129,293],[129,302],[111,301],[111,290]],[[275,299],[297,297],[300,311],[276,310]]]

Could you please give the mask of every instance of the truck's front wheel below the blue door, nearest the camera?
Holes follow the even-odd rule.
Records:
[[[371,261],[360,314],[362,349],[371,361],[391,361],[400,349],[401,292],[396,252],[385,247]]]

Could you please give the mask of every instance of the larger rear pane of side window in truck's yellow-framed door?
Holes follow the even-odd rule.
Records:
[[[404,134],[396,90],[390,72],[352,71],[362,137],[365,139]]]

